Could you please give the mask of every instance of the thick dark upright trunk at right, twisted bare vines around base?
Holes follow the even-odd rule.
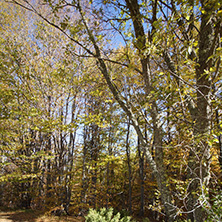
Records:
[[[196,106],[190,109],[193,119],[194,145],[189,154],[189,185],[188,219],[203,222],[206,213],[202,208],[199,197],[207,188],[210,179],[210,146],[207,143],[210,133],[210,89],[211,77],[207,74],[213,65],[209,58],[215,50],[214,24],[212,16],[213,4],[202,0],[201,26],[199,34],[199,55],[196,67],[197,100]],[[204,188],[205,187],[205,188]],[[207,190],[204,190],[207,192]]]

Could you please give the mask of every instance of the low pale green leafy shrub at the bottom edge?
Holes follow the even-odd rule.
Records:
[[[86,222],[129,222],[131,218],[125,216],[120,219],[120,213],[114,214],[113,208],[101,208],[100,210],[89,209],[88,215],[85,217]]]

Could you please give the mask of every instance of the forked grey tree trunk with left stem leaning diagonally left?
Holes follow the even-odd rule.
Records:
[[[134,29],[135,29],[136,37],[138,40],[137,41],[137,46],[138,46],[137,48],[138,48],[139,52],[141,53],[146,48],[146,35],[143,30],[142,16],[140,15],[139,10],[138,10],[139,4],[138,4],[137,0],[133,0],[133,1],[126,0],[126,3],[127,3],[127,6],[130,10],[131,18],[134,23]],[[161,135],[162,129],[159,127],[156,128],[155,126],[153,126],[154,134],[156,134],[156,135],[154,135],[154,137],[156,138],[155,147],[157,147],[160,150],[160,152],[157,153],[157,159],[156,159],[156,161],[159,160],[159,162],[156,163],[156,161],[154,161],[154,159],[149,151],[149,145],[147,144],[147,142],[144,139],[143,133],[140,128],[140,124],[137,121],[137,118],[135,117],[134,113],[131,110],[132,107],[128,107],[126,105],[126,103],[122,99],[121,94],[119,93],[119,91],[117,90],[116,86],[113,84],[113,82],[110,78],[105,61],[101,57],[100,48],[98,47],[96,39],[93,36],[91,30],[89,29],[87,21],[86,21],[84,14],[82,12],[80,1],[78,1],[78,8],[79,8],[80,15],[82,17],[83,24],[87,30],[87,34],[89,36],[89,39],[90,39],[90,41],[94,47],[94,50],[95,50],[95,54],[93,56],[97,59],[97,66],[98,66],[99,70],[101,71],[101,73],[103,74],[103,77],[105,78],[106,83],[107,83],[110,91],[112,92],[115,100],[119,103],[120,107],[123,109],[123,111],[126,113],[128,118],[131,120],[132,125],[133,125],[135,131],[137,132],[137,135],[138,135],[140,142],[141,142],[141,147],[144,149],[147,161],[150,164],[153,174],[155,175],[155,177],[157,179],[157,184],[158,184],[158,188],[161,192],[161,200],[162,200],[162,203],[165,208],[166,217],[168,218],[169,222],[174,221],[175,209],[173,207],[173,204],[171,203],[171,195],[170,195],[169,186],[168,186],[167,180],[166,180],[166,173],[164,171],[164,166],[162,165],[163,159],[161,159],[163,157],[163,155],[162,155],[162,152],[163,152],[162,137],[161,137],[162,136]],[[135,9],[136,9],[136,11],[135,11]],[[137,14],[137,13],[139,13],[139,14]],[[142,72],[143,72],[143,78],[144,78],[144,83],[145,83],[144,89],[146,91],[146,94],[148,95],[151,90],[149,60],[148,60],[148,58],[143,58],[143,57],[144,56],[141,54],[141,65],[142,65]],[[154,106],[152,108],[152,109],[154,109],[154,110],[152,110],[153,123],[159,124],[158,111],[157,111],[156,104],[154,101],[153,101],[153,104],[154,104]]]

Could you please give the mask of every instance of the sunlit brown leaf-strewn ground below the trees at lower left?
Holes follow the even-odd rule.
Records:
[[[0,222],[83,222],[83,217],[46,216],[38,211],[0,211]]]

